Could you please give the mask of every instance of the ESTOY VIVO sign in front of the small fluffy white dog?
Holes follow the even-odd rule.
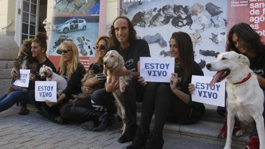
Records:
[[[35,81],[35,100],[57,102],[56,81]]]

